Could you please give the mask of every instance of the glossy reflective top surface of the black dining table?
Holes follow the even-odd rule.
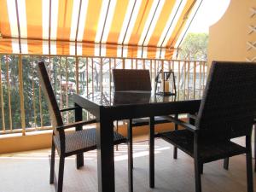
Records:
[[[145,105],[154,103],[188,102],[201,100],[197,97],[161,96],[148,91],[117,91],[94,93],[94,95],[78,95],[87,101],[103,107],[118,107],[125,105]]]

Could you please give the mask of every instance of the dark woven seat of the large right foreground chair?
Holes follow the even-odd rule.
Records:
[[[186,154],[194,157],[194,134],[188,130],[177,130],[160,133],[159,137],[172,143]],[[223,159],[227,156],[246,153],[246,148],[233,142],[204,144],[200,146],[199,156],[204,162]]]

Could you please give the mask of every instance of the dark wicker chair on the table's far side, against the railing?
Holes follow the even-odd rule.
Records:
[[[144,91],[151,92],[151,80],[148,70],[143,69],[113,69],[113,86],[115,92],[120,91]],[[128,146],[130,148],[129,154],[132,160],[132,127],[138,127],[143,125],[148,125],[148,118],[140,119],[129,119],[127,120],[128,125]],[[154,118],[155,124],[170,123],[164,117],[157,116]],[[118,122],[116,124],[116,129],[118,131]],[[131,161],[131,166],[132,166]]]

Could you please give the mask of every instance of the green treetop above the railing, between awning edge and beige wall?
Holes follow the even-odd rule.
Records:
[[[181,60],[207,61],[207,33],[189,33],[181,44],[178,58]]]

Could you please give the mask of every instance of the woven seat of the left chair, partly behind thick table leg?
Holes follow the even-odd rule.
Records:
[[[65,134],[66,140],[66,156],[71,154],[78,154],[78,152],[86,152],[96,149],[96,129],[86,129],[82,131],[72,131]],[[57,151],[61,152],[60,137],[54,137],[55,147]],[[126,138],[119,133],[113,131],[113,143],[126,143]]]

